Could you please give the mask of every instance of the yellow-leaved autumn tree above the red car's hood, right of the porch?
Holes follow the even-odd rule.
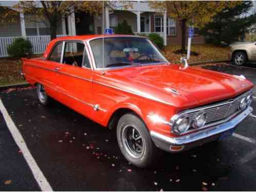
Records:
[[[234,7],[240,3],[236,1],[151,1],[149,4],[158,12],[167,12],[169,17],[178,20],[181,28],[181,51],[184,51],[188,26],[202,28],[224,8]]]

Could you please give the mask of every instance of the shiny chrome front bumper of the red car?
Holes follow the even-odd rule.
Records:
[[[237,124],[239,124],[241,121],[243,121],[250,113],[252,112],[252,108],[249,106],[244,112],[237,115],[235,118],[231,119],[230,121],[213,126],[210,129],[199,131],[196,133],[192,133],[190,135],[181,136],[181,137],[168,137],[162,134],[159,134],[157,132],[151,131],[150,135],[151,137],[154,137],[156,139],[160,139],[164,142],[167,142],[170,145],[184,145],[189,144],[201,139],[208,138],[210,136],[220,134],[222,132],[228,131],[230,129],[233,129]]]

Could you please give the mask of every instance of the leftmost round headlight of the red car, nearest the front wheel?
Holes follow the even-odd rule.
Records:
[[[189,114],[182,114],[181,116],[176,116],[172,121],[173,132],[176,134],[185,133],[190,127],[190,117]]]

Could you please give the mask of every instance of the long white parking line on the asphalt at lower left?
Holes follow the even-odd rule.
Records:
[[[44,174],[40,170],[38,164],[36,164],[34,158],[32,157],[31,153],[29,152],[28,147],[27,147],[21,133],[19,132],[19,130],[15,126],[14,122],[12,121],[11,117],[9,116],[1,99],[0,99],[0,110],[4,116],[5,122],[7,124],[9,131],[12,134],[13,139],[15,140],[17,145],[20,147],[20,150],[22,151],[22,154],[23,154],[25,160],[27,161],[27,163],[32,171],[32,174],[33,174],[36,182],[38,182],[41,190],[42,191],[53,191],[50,184],[48,183],[47,179],[45,178]]]

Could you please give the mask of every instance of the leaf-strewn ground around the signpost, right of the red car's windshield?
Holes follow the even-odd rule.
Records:
[[[164,56],[173,63],[179,63],[180,57],[186,57],[186,54],[174,54],[173,52],[180,49],[180,46],[167,46],[163,50]],[[220,61],[229,60],[229,47],[217,47],[212,45],[192,45],[191,51],[199,53],[198,56],[190,56],[191,62]]]

